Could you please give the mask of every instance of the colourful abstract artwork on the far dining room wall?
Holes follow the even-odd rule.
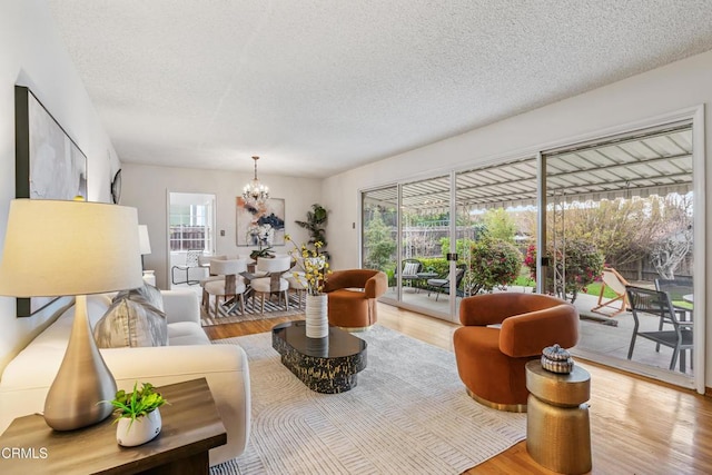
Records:
[[[264,204],[249,204],[245,198],[236,199],[237,245],[268,246],[285,244],[285,200],[269,198]]]

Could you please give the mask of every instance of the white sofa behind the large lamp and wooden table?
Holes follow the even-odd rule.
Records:
[[[101,349],[119,389],[134,383],[154,386],[205,377],[222,423],[227,445],[210,451],[210,465],[240,455],[249,438],[250,387],[245,350],[212,345],[200,327],[198,297],[190,289],[161,290],[169,346]],[[109,305],[109,295],[87,297],[93,325]],[[0,377],[0,433],[19,416],[41,413],[44,398],[67,348],[75,307],[65,310],[6,367]]]

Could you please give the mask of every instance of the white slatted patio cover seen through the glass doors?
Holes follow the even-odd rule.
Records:
[[[692,190],[692,128],[689,122],[609,137],[574,148],[542,152],[548,199],[601,200],[684,195]],[[456,205],[471,208],[537,205],[537,160],[523,158],[505,164],[458,171]],[[449,209],[451,178],[441,176],[403,185],[405,209]],[[368,192],[372,201],[396,207],[397,189]]]

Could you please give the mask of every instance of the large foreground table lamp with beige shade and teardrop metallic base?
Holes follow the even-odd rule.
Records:
[[[140,287],[136,208],[85,201],[10,202],[0,295],[76,296],[71,336],[44,400],[44,420],[72,431],[107,418],[116,380],[87,316],[87,294]]]

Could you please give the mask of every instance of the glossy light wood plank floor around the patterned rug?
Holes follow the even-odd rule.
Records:
[[[289,319],[219,325],[205,330],[211,339],[228,338],[268,331]],[[378,323],[448,350],[457,328],[455,324],[383,304],[378,304]],[[591,373],[592,474],[712,474],[712,398],[589,362],[576,363]],[[537,465],[522,442],[466,473],[554,472]]]

